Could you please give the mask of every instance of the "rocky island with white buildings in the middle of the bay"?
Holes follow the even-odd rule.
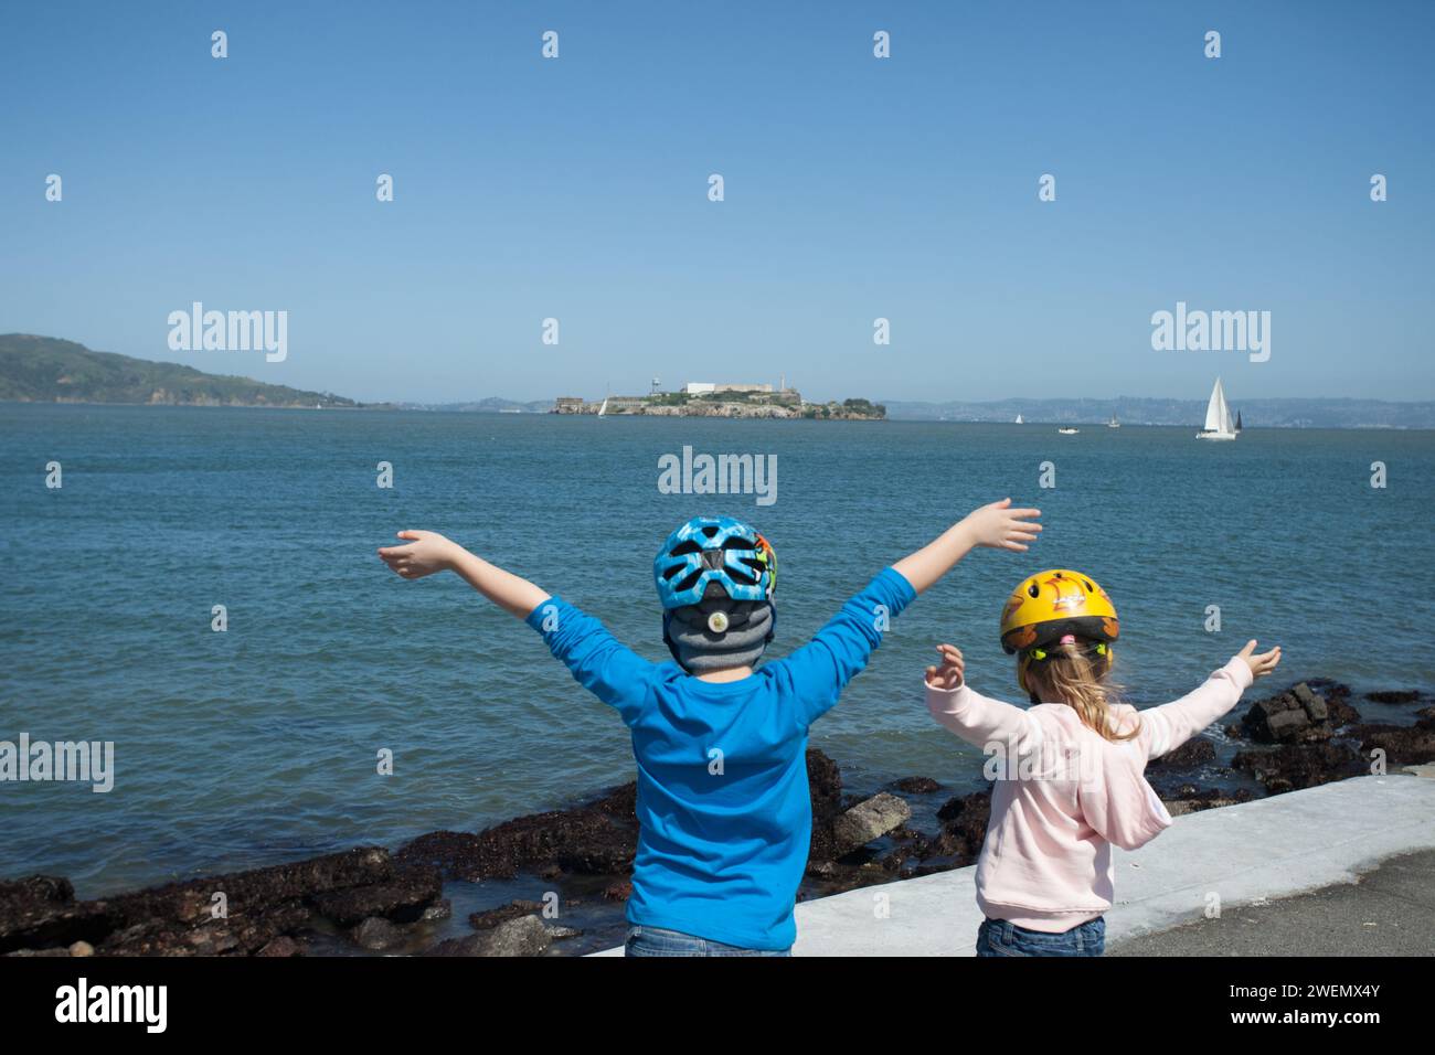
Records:
[[[821,421],[881,421],[887,408],[867,399],[809,403],[796,389],[781,383],[733,385],[687,382],[676,392],[662,392],[657,380],[646,396],[604,396],[585,400],[558,396],[552,413],[623,413],[669,418],[814,418]]]

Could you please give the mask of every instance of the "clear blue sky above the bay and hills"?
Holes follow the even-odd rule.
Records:
[[[0,332],[360,399],[1432,399],[1432,29],[1353,0],[6,4]],[[194,300],[287,310],[287,360],[171,352]],[[1154,352],[1178,300],[1271,311],[1270,360]]]

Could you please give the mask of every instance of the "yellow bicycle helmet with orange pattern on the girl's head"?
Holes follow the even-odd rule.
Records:
[[[1039,571],[1022,581],[1002,609],[1002,647],[1022,653],[1020,680],[1026,667],[1046,659],[1046,649],[1075,637],[1095,644],[1098,655],[1121,636],[1116,606],[1091,576],[1071,568]]]

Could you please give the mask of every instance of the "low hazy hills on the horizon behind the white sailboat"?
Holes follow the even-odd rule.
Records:
[[[1231,399],[1246,428],[1435,429],[1435,403],[1382,399]],[[1099,425],[1116,415],[1124,425],[1190,425],[1205,421],[1204,399],[1002,399],[992,403],[914,403],[888,399],[894,421],[1029,422]]]

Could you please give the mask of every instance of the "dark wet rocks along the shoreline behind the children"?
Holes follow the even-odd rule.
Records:
[[[1204,736],[1157,759],[1148,778],[1172,815],[1435,761],[1435,705],[1370,692],[1398,722],[1368,721],[1347,686],[1302,682],[1225,726],[1228,765]],[[1373,755],[1372,752],[1383,752]],[[838,765],[809,749],[812,847],[799,900],[961,868],[976,861],[990,791],[953,795],[927,777],[872,795],[844,792]],[[1223,777],[1253,787],[1211,787]],[[0,955],[537,956],[617,944],[637,845],[636,785],[479,833],[433,831],[396,851],[356,847],[291,864],[76,900],[69,880],[0,881]],[[918,822],[917,812],[924,814]],[[459,917],[456,891],[524,890]],[[531,897],[537,894],[537,897]]]

